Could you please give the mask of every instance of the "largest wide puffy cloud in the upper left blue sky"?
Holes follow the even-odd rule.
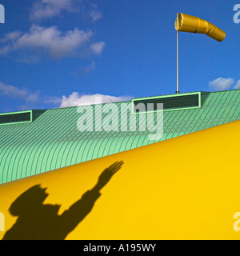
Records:
[[[26,34],[19,32],[6,34],[2,42],[7,44],[2,46],[0,54],[7,54],[14,50],[43,50],[51,58],[63,58],[76,54],[91,37],[91,31],[86,32],[78,28],[62,33],[56,26],[33,25],[30,27],[30,32]]]

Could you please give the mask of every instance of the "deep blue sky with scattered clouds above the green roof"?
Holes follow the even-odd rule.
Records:
[[[180,91],[240,88],[236,1],[0,0],[0,112],[105,102],[176,90],[178,12],[226,31],[179,34]],[[240,19],[240,14],[239,14]]]

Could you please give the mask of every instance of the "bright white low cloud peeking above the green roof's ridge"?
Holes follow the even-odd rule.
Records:
[[[86,106],[94,105],[98,103],[110,103],[110,102],[124,102],[129,101],[131,98],[128,96],[110,96],[103,94],[92,94],[92,95],[82,95],[78,92],[73,92],[68,97],[62,96],[62,103],[60,107],[68,106]]]

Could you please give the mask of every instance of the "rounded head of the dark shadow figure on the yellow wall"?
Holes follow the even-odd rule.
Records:
[[[33,210],[38,210],[48,195],[46,188],[42,188],[40,184],[32,186],[11,204],[9,209],[10,214],[19,216]]]

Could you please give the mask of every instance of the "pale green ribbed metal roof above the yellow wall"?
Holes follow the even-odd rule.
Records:
[[[161,141],[239,120],[239,96],[240,90],[212,92],[201,108],[164,111]],[[148,132],[79,132],[77,109],[46,110],[34,122],[0,126],[0,183],[154,142]]]

